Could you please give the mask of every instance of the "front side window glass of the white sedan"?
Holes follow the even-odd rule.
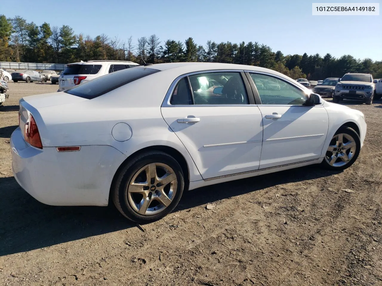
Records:
[[[251,73],[262,104],[302,105],[308,99],[299,88],[265,74]]]

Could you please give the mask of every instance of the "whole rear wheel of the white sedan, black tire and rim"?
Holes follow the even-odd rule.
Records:
[[[170,175],[166,178],[172,181],[162,186],[160,180],[151,179],[149,182],[146,174],[153,174],[152,170],[155,170],[155,178],[165,178],[167,172]],[[134,182],[149,183],[133,187]],[[147,151],[128,161],[116,175],[112,198],[117,209],[129,220],[151,223],[162,219],[176,207],[183,189],[184,175],[179,163],[162,151]],[[144,201],[148,202],[146,208]]]

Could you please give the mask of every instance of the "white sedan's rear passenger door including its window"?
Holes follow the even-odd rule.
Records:
[[[240,72],[184,77],[162,115],[203,179],[259,169],[262,116]]]

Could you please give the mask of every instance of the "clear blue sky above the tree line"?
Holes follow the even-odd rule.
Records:
[[[319,0],[65,0],[30,5],[2,5],[0,14],[19,15],[27,22],[51,27],[69,25],[76,34],[94,38],[102,33],[133,42],[156,34],[159,39],[198,45],[259,42],[284,55],[319,53],[324,56],[352,55],[382,60],[382,12],[379,16],[312,16],[312,2]],[[324,3],[338,3],[325,0]],[[380,0],[342,1],[380,3]],[[51,7],[54,7],[52,9]],[[380,6],[381,3],[380,3]],[[381,8],[380,8],[381,9]]]

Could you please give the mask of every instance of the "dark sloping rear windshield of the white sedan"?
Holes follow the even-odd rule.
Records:
[[[115,90],[129,82],[133,82],[134,80],[155,74],[155,72],[159,71],[157,69],[149,69],[146,67],[123,69],[89,80],[88,82],[65,90],[65,92],[82,98],[92,99]]]

